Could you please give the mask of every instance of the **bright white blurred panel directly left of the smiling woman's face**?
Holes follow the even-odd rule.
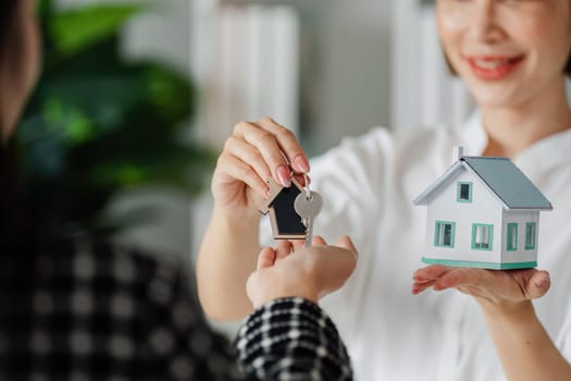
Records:
[[[393,4],[393,128],[462,123],[474,105],[464,85],[445,65],[434,7],[421,0],[394,0]]]

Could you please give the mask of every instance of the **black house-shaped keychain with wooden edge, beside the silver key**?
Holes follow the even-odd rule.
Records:
[[[270,214],[274,238],[305,239],[306,225],[294,208],[296,197],[303,192],[303,186],[294,177],[290,187],[281,186],[273,180],[269,180],[268,184],[270,185],[270,198],[260,212]]]

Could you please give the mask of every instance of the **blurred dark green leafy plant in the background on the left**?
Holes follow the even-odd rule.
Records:
[[[160,184],[195,194],[213,163],[183,135],[196,103],[189,81],[164,64],[120,56],[122,26],[139,10],[55,12],[50,0],[40,3],[44,73],[16,142],[28,212],[51,235],[137,223],[142,214],[104,217],[117,193]]]

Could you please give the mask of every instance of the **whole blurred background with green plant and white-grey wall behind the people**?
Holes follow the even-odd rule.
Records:
[[[190,259],[238,121],[273,116],[313,156],[473,108],[447,74],[432,1],[41,4],[44,77],[17,138],[26,197],[54,234],[90,229]]]

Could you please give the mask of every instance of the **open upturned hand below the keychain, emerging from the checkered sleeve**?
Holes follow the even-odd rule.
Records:
[[[286,296],[316,303],[343,286],[356,265],[357,250],[348,236],[339,238],[335,246],[327,246],[315,236],[309,248],[300,242],[281,241],[275,249],[262,249],[246,290],[255,308]]]

